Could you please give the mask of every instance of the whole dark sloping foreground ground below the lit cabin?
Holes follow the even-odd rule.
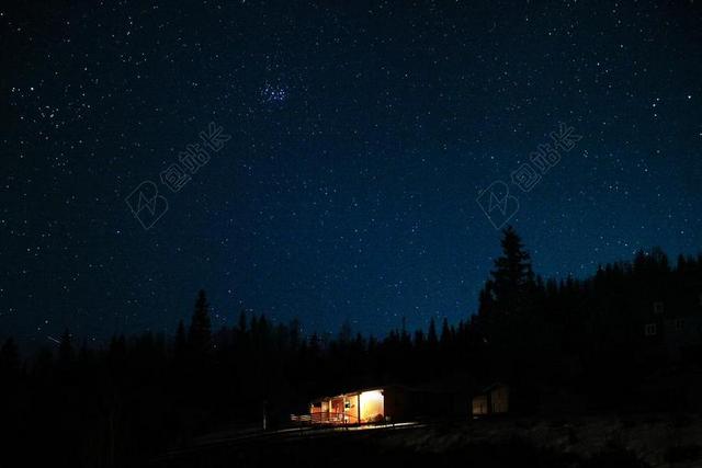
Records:
[[[699,415],[505,419],[210,437],[152,467],[702,467]]]

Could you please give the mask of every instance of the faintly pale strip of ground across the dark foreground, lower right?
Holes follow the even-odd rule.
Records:
[[[676,467],[702,467],[702,418],[691,414],[478,420],[432,425],[407,434],[390,433],[384,444],[441,454],[468,445],[501,445],[516,440],[582,459],[616,448],[635,454],[652,467],[671,466],[671,460],[676,460]]]

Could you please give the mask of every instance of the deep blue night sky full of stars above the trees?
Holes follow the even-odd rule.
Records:
[[[545,276],[701,250],[692,0],[13,0],[0,45],[0,334],[456,322],[502,221]]]

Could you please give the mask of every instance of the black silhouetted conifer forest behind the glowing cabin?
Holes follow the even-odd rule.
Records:
[[[56,350],[32,356],[9,339],[0,350],[7,456],[134,466],[199,434],[260,425],[264,413],[280,425],[312,398],[384,384],[505,381],[532,412],[556,390],[586,397],[592,411],[646,409],[635,396],[648,376],[701,364],[699,343],[673,362],[644,327],[656,304],[702,315],[702,255],[671,265],[653,249],[584,279],[543,279],[512,228],[501,248],[477,312],[458,323],[432,319],[427,330],[374,338],[344,324],[335,338],[304,335],[297,320],[252,311],[213,330],[201,290],[173,336],[115,335],[93,349],[66,331]]]

